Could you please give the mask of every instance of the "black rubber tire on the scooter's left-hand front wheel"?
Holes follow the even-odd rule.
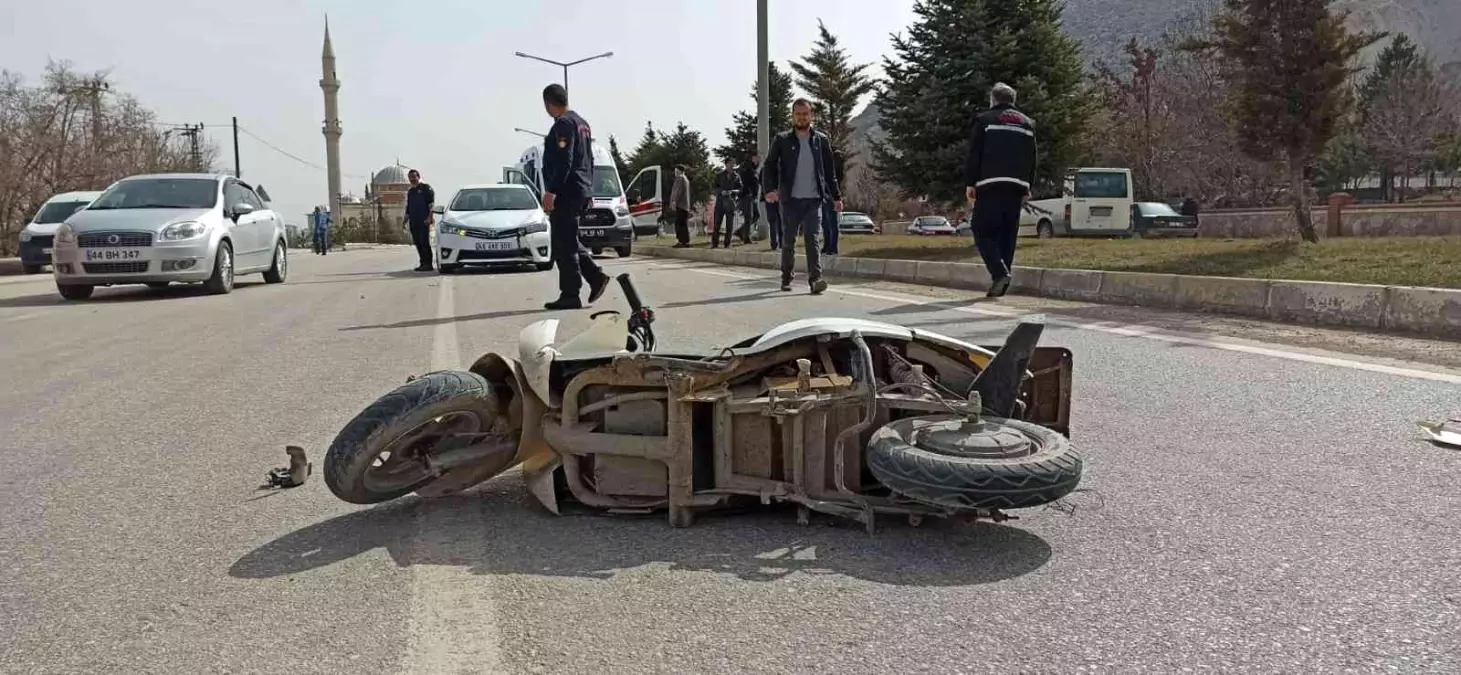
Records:
[[[375,456],[378,441],[396,432],[405,422],[413,422],[427,409],[446,413],[460,409],[478,409],[488,419],[497,415],[497,394],[487,378],[476,373],[441,370],[427,373],[408,381],[365,406],[330,443],[324,456],[324,484],[335,497],[351,504],[378,504],[405,497],[438,478],[427,478],[415,485],[371,491],[364,487],[364,473]],[[422,418],[430,419],[430,418]]]

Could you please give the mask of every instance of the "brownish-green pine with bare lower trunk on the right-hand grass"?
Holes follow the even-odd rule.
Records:
[[[1378,37],[1351,34],[1334,0],[1224,0],[1213,50],[1236,75],[1229,118],[1243,152],[1289,172],[1299,235],[1318,243],[1309,169],[1354,110],[1354,60]]]

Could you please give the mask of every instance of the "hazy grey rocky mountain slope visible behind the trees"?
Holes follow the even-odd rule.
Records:
[[[1220,4],[1221,0],[1067,0],[1065,31],[1081,41],[1087,60],[1119,63],[1128,39],[1160,41],[1169,29],[1201,20]],[[1442,70],[1461,77],[1461,0],[1341,0],[1340,6],[1350,9],[1351,28],[1404,32]],[[1366,58],[1386,42],[1372,47]],[[877,104],[869,102],[852,124],[855,146],[882,134]]]

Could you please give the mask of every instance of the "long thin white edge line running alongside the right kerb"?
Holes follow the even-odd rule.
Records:
[[[730,279],[766,281],[768,283],[774,281],[770,276],[739,275],[739,273],[733,273],[733,272],[722,272],[722,270],[706,269],[706,267],[691,267],[691,266],[684,266],[684,264],[678,264],[678,266],[675,266],[675,264],[666,264],[666,267],[684,269],[684,270],[690,270],[690,272],[698,272],[701,275],[726,276],[726,278],[730,278]],[[947,300],[920,298],[920,297],[916,297],[916,295],[904,295],[904,294],[885,292],[885,291],[872,292],[872,291],[861,291],[861,289],[855,289],[855,288],[837,288],[837,286],[828,286],[827,291],[828,292],[843,294],[843,295],[853,295],[853,297],[858,297],[858,298],[881,300],[881,301],[887,301],[887,302],[925,305],[925,307],[926,305],[939,305],[938,307],[939,310],[953,310],[953,311],[961,311],[961,313],[966,313],[966,314],[982,314],[982,316],[1001,317],[1001,319],[1014,319],[1014,317],[1021,317],[1021,316],[1029,316],[1029,314],[1039,314],[1037,311],[993,310],[993,308],[983,308],[983,307],[947,307],[947,305],[944,305],[944,302],[948,302]],[[1214,339],[1210,339],[1210,338],[1201,338],[1201,336],[1195,336],[1195,335],[1189,335],[1189,333],[1183,335],[1183,333],[1178,333],[1178,332],[1172,332],[1172,330],[1163,330],[1163,329],[1159,329],[1156,326],[1144,326],[1144,324],[1138,324],[1138,323],[1121,324],[1121,323],[1115,323],[1115,321],[1072,321],[1072,320],[1067,320],[1067,319],[1052,319],[1049,316],[1046,316],[1046,321],[1045,323],[1048,323],[1050,326],[1062,326],[1062,327],[1068,327],[1068,329],[1094,330],[1094,332],[1100,332],[1100,333],[1119,335],[1119,336],[1124,336],[1124,338],[1145,338],[1148,340],[1170,342],[1170,343],[1176,343],[1176,345],[1208,346],[1208,348],[1213,348],[1213,349],[1226,349],[1226,351],[1230,351],[1230,352],[1242,352],[1242,354],[1255,354],[1255,355],[1262,355],[1262,356],[1274,356],[1274,358],[1283,358],[1283,359],[1289,359],[1289,361],[1302,361],[1302,362],[1306,362],[1306,364],[1332,365],[1335,368],[1350,368],[1350,370],[1363,370],[1363,371],[1369,371],[1369,373],[1382,373],[1382,374],[1386,374],[1386,375],[1408,377],[1408,378],[1413,378],[1413,380],[1430,380],[1430,381],[1442,381],[1442,383],[1446,383],[1446,384],[1461,384],[1461,374],[1457,374],[1457,373],[1446,373],[1446,371],[1441,371],[1441,370],[1429,371],[1429,370],[1416,370],[1416,368],[1401,368],[1401,367],[1395,367],[1395,365],[1375,364],[1375,362],[1366,362],[1366,361],[1354,361],[1354,359],[1340,358],[1340,356],[1325,356],[1325,355],[1321,355],[1321,354],[1292,352],[1292,351],[1286,351],[1286,349],[1274,349],[1274,348],[1270,348],[1270,346],[1245,345],[1245,343],[1227,342],[1227,340],[1214,340]]]

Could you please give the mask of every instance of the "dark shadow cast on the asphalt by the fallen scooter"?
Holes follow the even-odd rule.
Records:
[[[449,525],[413,544],[422,519]],[[612,522],[611,522],[612,520]],[[709,571],[745,581],[793,573],[842,574],[896,586],[972,586],[1043,567],[1050,546],[1037,535],[992,523],[882,520],[877,535],[815,516],[798,526],[785,510],[701,517],[674,529],[655,517],[546,514],[503,494],[406,498],[311,525],[240,558],[240,579],[298,574],[384,548],[400,567],[462,565],[475,574],[609,580],[641,568]]]

